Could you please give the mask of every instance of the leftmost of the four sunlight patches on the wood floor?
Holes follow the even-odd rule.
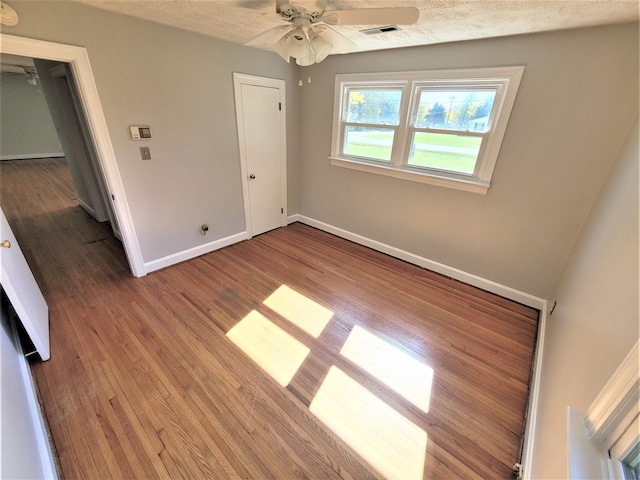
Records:
[[[289,384],[310,351],[255,310],[229,330],[227,337],[283,387]]]

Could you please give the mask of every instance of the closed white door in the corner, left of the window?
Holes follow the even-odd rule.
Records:
[[[284,82],[235,74],[249,236],[286,224]]]

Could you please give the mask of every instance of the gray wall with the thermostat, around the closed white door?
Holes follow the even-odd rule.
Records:
[[[14,1],[3,33],[87,48],[145,262],[244,231],[233,72],[287,81],[288,209],[297,210],[296,68],[271,52],[69,2]],[[129,125],[153,139],[131,140]],[[140,159],[149,146],[152,160]],[[207,223],[210,233],[200,235]]]

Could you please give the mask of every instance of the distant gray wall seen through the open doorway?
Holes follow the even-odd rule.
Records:
[[[0,75],[0,160],[62,155],[41,85]]]

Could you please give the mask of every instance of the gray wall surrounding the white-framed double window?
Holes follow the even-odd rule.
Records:
[[[337,73],[524,65],[486,196],[333,167]],[[300,89],[300,213],[548,298],[638,112],[638,25],[331,56]]]

